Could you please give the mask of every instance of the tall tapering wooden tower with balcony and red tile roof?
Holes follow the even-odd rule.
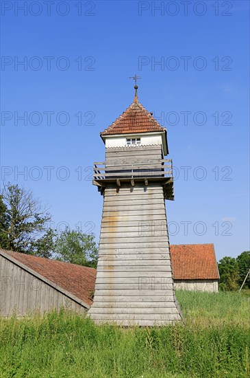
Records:
[[[175,298],[165,199],[173,200],[166,129],[138,101],[101,133],[94,164],[103,195],[95,298],[97,323],[153,326],[182,321]]]

